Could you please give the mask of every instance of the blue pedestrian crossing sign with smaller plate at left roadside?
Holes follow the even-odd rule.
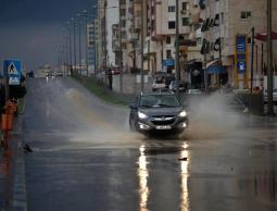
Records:
[[[4,60],[4,77],[9,77],[9,85],[20,85],[22,74],[22,62],[20,60]]]

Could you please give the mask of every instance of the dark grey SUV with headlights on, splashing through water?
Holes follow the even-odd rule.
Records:
[[[131,131],[184,132],[188,116],[176,95],[172,92],[141,94],[130,104],[129,126]]]

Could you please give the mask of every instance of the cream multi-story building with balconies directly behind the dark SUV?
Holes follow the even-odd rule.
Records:
[[[200,9],[193,0],[179,0],[178,8],[179,10],[176,11],[176,0],[148,1],[148,37],[144,42],[144,54],[148,55],[148,59],[144,66],[148,66],[152,75],[156,72],[175,73],[176,14],[178,13],[181,80],[191,84],[192,77],[196,77],[197,79],[193,80],[198,86],[201,86]],[[190,65],[193,67],[193,72],[190,71],[188,63],[193,64]]]

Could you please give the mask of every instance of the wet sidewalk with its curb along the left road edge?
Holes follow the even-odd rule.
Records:
[[[9,150],[0,149],[0,211],[26,211],[25,154],[21,140],[22,116],[10,134]]]

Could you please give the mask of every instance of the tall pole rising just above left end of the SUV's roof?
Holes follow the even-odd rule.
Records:
[[[140,53],[141,53],[141,69],[140,69],[140,83],[141,83],[141,91],[144,89],[144,76],[143,76],[143,38],[144,38],[144,0],[141,0],[141,40],[140,40]]]

